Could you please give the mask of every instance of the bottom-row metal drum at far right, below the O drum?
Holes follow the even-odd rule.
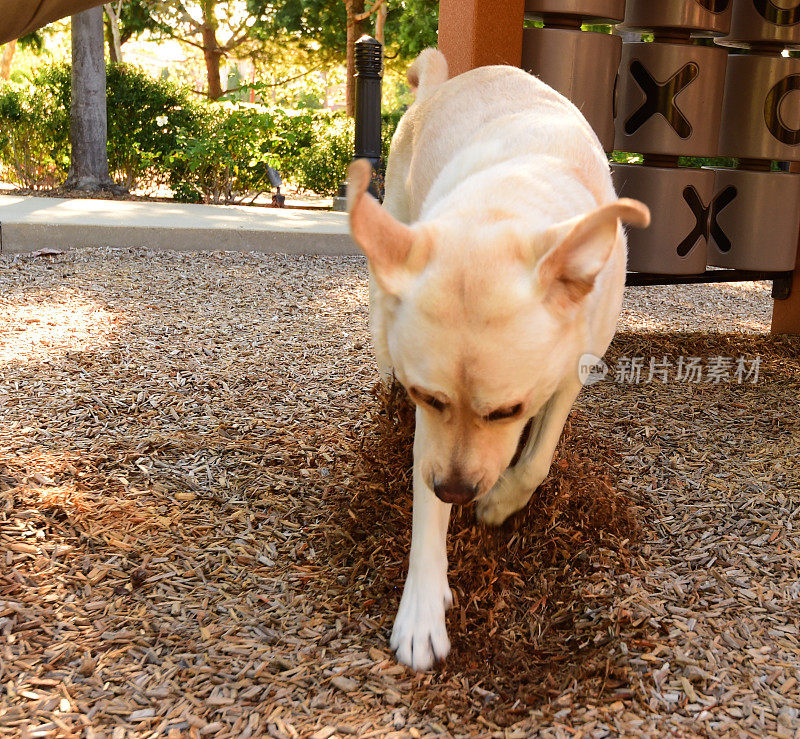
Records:
[[[714,168],[708,263],[794,269],[800,232],[800,174]]]

